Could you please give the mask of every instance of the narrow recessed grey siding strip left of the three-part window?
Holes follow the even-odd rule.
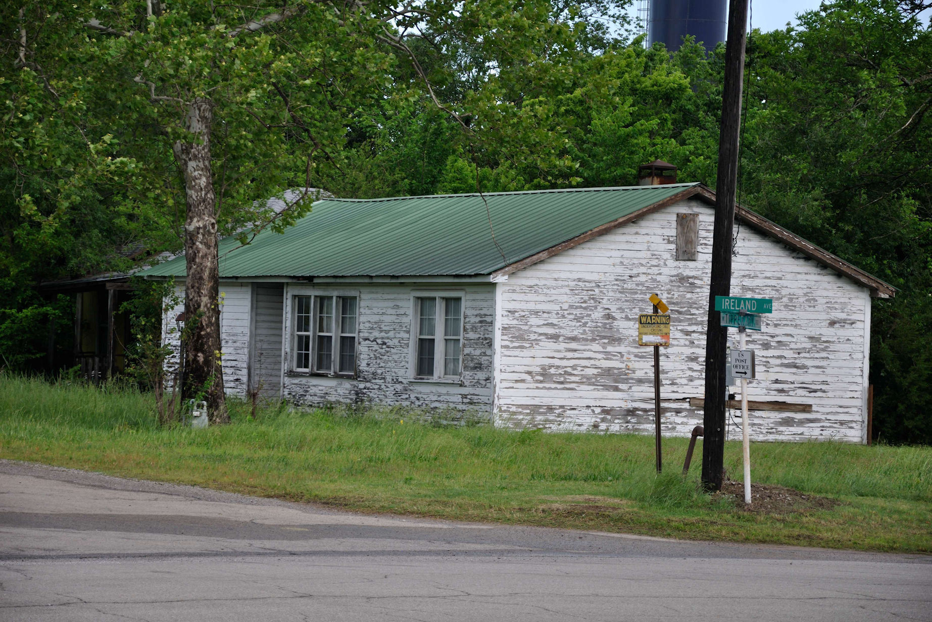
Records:
[[[267,399],[281,398],[281,361],[284,284],[254,283],[253,388]]]

